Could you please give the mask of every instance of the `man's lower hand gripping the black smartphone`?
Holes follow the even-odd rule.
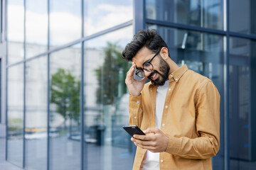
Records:
[[[148,149],[151,152],[165,152],[168,146],[168,137],[157,128],[149,128],[144,130],[145,134],[149,135],[133,135],[132,142],[137,147]]]

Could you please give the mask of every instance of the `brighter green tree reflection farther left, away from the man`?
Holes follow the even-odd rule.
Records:
[[[50,103],[54,103],[55,111],[63,116],[65,128],[68,118],[70,123],[71,120],[75,120],[79,125],[80,81],[76,80],[69,70],[58,69],[51,76],[50,92]]]

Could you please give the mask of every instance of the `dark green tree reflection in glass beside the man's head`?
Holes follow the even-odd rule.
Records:
[[[125,85],[129,63],[122,59],[122,47],[107,42],[104,49],[105,61],[95,70],[98,80],[97,103],[112,105],[116,97],[127,92]]]

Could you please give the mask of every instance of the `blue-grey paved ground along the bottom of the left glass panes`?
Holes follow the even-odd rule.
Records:
[[[6,162],[6,139],[0,134],[0,170],[22,170],[18,166]],[[68,140],[66,137],[56,137],[50,140],[50,167],[54,170],[79,170],[80,169],[80,142]],[[134,153],[128,148],[112,145],[97,146],[95,143],[87,143],[84,150],[85,169],[112,170],[132,169]],[[12,162],[22,162],[22,140],[9,142],[9,159]],[[87,166],[87,167],[86,167]],[[46,169],[46,140],[26,141],[26,167],[27,169]]]

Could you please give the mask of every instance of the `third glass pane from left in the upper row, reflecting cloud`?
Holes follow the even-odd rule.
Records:
[[[78,40],[81,31],[81,1],[50,0],[50,47]]]

